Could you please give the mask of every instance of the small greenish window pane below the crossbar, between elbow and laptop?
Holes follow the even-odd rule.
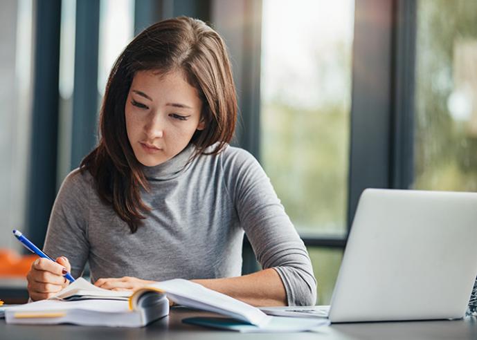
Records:
[[[343,258],[343,250],[309,247],[308,252],[312,259],[316,281],[318,281],[317,303],[329,305]]]

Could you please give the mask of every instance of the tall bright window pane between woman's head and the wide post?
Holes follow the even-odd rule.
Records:
[[[354,1],[264,0],[261,157],[300,232],[344,234]]]

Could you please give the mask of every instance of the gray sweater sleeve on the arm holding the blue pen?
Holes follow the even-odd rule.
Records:
[[[55,259],[68,258],[71,275],[82,275],[89,254],[89,174],[73,170],[64,179],[51,211],[44,252]]]

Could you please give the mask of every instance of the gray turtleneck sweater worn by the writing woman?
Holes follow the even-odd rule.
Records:
[[[240,276],[244,232],[263,268],[278,272],[289,305],[314,305],[316,280],[303,241],[270,180],[250,153],[227,146],[199,155],[189,146],[156,167],[144,167],[152,207],[132,234],[93,178],[72,171],[55,200],[44,250],[66,256],[78,277],[89,261],[91,281],[102,277],[170,278]]]

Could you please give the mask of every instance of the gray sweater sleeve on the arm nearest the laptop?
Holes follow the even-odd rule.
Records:
[[[222,167],[258,262],[278,272],[288,305],[314,305],[316,279],[307,249],[262,167],[250,153],[233,147],[222,153]]]

